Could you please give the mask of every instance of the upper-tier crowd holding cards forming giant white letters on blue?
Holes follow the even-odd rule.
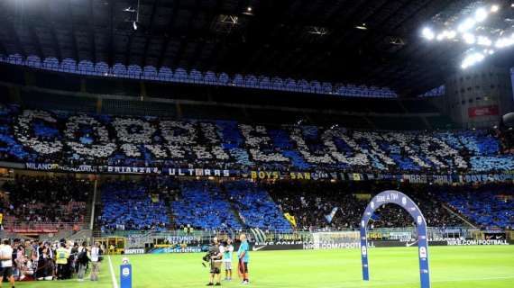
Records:
[[[0,110],[0,122],[0,157],[18,162],[420,174],[514,169],[514,156],[499,156],[512,147],[503,144],[509,134],[491,130],[379,132],[11,106]]]

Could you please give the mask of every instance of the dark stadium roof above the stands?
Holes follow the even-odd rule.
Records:
[[[416,95],[444,83],[462,53],[427,44],[420,27],[475,2],[140,1],[137,9],[137,0],[3,0],[0,54],[389,86]]]

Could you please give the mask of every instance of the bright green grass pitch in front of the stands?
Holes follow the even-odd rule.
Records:
[[[430,269],[434,288],[514,287],[514,246],[430,247]],[[414,288],[419,287],[416,247],[370,250],[371,281],[361,276],[359,249],[259,251],[251,254],[250,287],[326,288]],[[208,271],[201,266],[200,254],[131,256],[133,287],[201,287]],[[119,278],[122,257],[111,257],[115,279]],[[101,281],[20,283],[16,287],[113,287],[108,259],[102,263]],[[225,287],[240,287],[237,275]],[[6,287],[6,284],[4,284]]]

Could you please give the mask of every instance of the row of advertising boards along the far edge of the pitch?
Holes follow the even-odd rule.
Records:
[[[344,231],[297,231],[280,233],[262,229],[246,230],[184,230],[173,231],[116,231],[104,234],[106,243],[121,243],[123,248],[115,251],[127,254],[140,253],[186,253],[207,249],[212,238],[237,239],[244,232],[254,250],[280,249],[329,249],[358,248],[360,237],[357,230]],[[370,247],[411,247],[418,242],[415,228],[370,229]],[[514,244],[510,230],[480,230],[468,228],[428,228],[427,240],[431,246],[509,245]],[[237,243],[237,240],[235,241]],[[237,245],[237,244],[236,244]]]

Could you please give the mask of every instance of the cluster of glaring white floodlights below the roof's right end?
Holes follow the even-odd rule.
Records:
[[[511,6],[514,7],[514,4],[511,4]],[[500,36],[500,38],[498,36],[484,35],[484,29],[482,29],[483,26],[481,24],[486,22],[491,14],[496,14],[498,11],[500,11],[499,4],[478,7],[462,22],[455,23],[454,27],[449,27],[451,25],[445,24],[446,29],[443,31],[436,31],[432,27],[424,27],[421,30],[421,37],[429,41],[458,41],[471,46],[472,49],[469,50],[471,52],[466,53],[461,63],[461,67],[464,69],[471,67],[482,62],[484,58],[493,55],[496,52],[494,49],[505,49],[514,46],[514,33],[510,36]],[[503,32],[501,31],[501,33]],[[494,49],[491,49],[491,47]],[[477,52],[478,50],[482,52]]]

